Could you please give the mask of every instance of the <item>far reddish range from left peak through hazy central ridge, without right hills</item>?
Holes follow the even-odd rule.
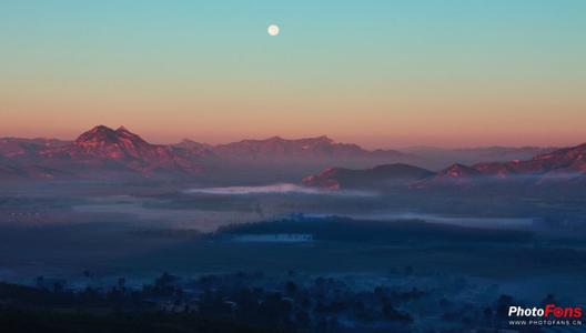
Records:
[[[368,151],[356,144],[337,143],[327,137],[286,140],[242,140],[210,145],[183,140],[152,144],[124,127],[98,125],[74,141],[57,139],[0,139],[1,179],[201,176],[280,165],[281,169],[348,164],[371,165],[385,161],[413,161],[393,150]],[[293,167],[295,165],[295,167]],[[42,170],[27,172],[26,170]]]

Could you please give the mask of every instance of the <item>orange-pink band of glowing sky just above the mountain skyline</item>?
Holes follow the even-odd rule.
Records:
[[[2,110],[0,137],[71,140],[97,124],[105,124],[124,125],[156,143],[191,139],[216,144],[274,135],[287,139],[327,135],[339,142],[358,143],[370,149],[563,147],[586,141],[582,125],[586,115],[580,112],[584,108],[579,103],[555,104],[543,99],[501,103],[462,99],[390,100],[370,100],[371,103],[351,99],[305,103],[277,100],[173,103],[152,99],[143,102],[122,99],[26,101],[11,103],[10,109]],[[569,115],[562,118],[556,110]]]

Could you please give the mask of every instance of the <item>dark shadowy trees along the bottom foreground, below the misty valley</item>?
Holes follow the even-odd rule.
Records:
[[[90,276],[90,273],[87,273]],[[421,329],[412,304],[435,302],[441,323],[462,329],[505,327],[507,309],[521,303],[436,300],[416,287],[355,289],[332,278],[265,279],[256,274],[185,280],[168,273],[141,289],[120,279],[108,287],[71,290],[39,278],[38,286],[0,283],[0,327],[7,332],[340,332],[344,329]],[[544,303],[554,302],[548,295]],[[420,324],[420,325],[418,325]],[[441,331],[441,330],[440,330]],[[438,331],[438,332],[440,332]]]

